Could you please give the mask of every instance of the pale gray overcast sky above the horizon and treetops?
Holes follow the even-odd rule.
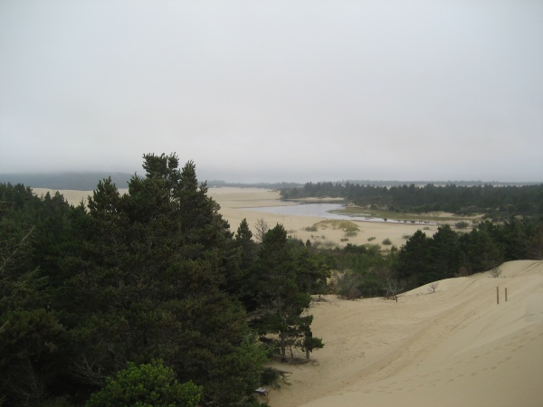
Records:
[[[0,173],[543,181],[540,0],[0,0]]]

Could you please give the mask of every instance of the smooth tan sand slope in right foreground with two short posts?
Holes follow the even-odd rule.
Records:
[[[502,270],[499,279],[446,279],[397,303],[314,303],[313,331],[326,345],[312,364],[277,364],[291,386],[271,390],[271,406],[543,405],[543,261]]]

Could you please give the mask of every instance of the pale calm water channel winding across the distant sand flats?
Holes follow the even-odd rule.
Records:
[[[344,204],[296,204],[290,206],[265,206],[262,208],[246,208],[252,211],[278,213],[288,215],[299,216],[316,216],[326,219],[339,219],[349,221],[363,221],[363,222],[390,222],[390,223],[405,223],[405,221],[395,221],[394,219],[385,220],[383,218],[374,218],[369,215],[350,216],[347,214],[330,213],[330,211],[337,211],[338,209],[345,209]],[[416,224],[429,224],[430,222],[424,221],[407,221]]]

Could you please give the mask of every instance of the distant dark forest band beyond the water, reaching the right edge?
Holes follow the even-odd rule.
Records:
[[[359,185],[308,183],[281,189],[283,199],[341,197],[360,205],[376,205],[396,212],[444,211],[459,214],[489,213],[500,217],[543,214],[543,184],[539,185]]]

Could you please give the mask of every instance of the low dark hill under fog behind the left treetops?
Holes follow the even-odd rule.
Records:
[[[117,187],[127,188],[131,174],[125,173],[34,173],[34,174],[0,174],[2,184],[23,184],[32,188],[72,189],[92,191],[104,179],[111,177]]]

